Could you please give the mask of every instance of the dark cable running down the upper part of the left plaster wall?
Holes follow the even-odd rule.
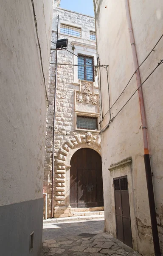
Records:
[[[43,62],[42,62],[41,45],[39,43],[38,26],[37,26],[36,14],[35,14],[35,9],[34,9],[34,1],[31,0],[31,3],[32,3],[33,13],[34,13],[34,23],[35,23],[35,28],[36,28],[37,42],[38,42],[38,45],[39,45],[39,55],[40,55],[42,76],[43,76],[43,79],[44,79],[44,87],[45,87],[45,94],[46,94],[46,101],[47,101],[47,108],[48,108],[49,107],[48,93],[47,93],[47,90],[46,90],[45,75],[44,75]]]

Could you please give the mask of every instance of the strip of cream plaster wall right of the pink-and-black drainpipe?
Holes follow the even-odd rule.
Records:
[[[138,54],[138,63],[149,54],[155,46],[163,31],[163,3],[161,0],[129,1],[135,44]],[[142,29],[139,29],[143,24]],[[163,58],[163,39],[157,44],[155,51],[149,56],[140,68],[141,81],[155,69],[157,63]],[[155,192],[157,223],[160,236],[160,245],[163,253],[163,65],[143,85],[144,104],[149,138],[149,151]]]

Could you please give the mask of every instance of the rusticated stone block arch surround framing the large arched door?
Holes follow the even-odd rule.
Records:
[[[76,148],[82,143],[91,144],[91,148],[101,147],[101,137],[98,134],[92,135],[90,132],[86,134],[77,134],[70,140],[67,140],[59,149],[55,160],[55,183],[56,183],[56,205],[65,205],[65,173],[70,166],[66,165],[66,159],[70,150]]]

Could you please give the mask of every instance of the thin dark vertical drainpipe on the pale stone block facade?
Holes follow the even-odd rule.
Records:
[[[58,15],[58,25],[57,25],[57,36],[59,36],[59,15]],[[55,119],[56,119],[56,85],[57,85],[57,60],[58,60],[58,51],[56,51],[56,77],[55,77],[55,93],[54,93],[54,113],[53,113],[53,151],[52,151],[52,177],[51,177],[51,218],[53,218],[53,189],[54,189],[54,132],[55,132]]]

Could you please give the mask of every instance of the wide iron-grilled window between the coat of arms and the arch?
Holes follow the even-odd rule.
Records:
[[[86,130],[97,130],[97,117],[92,116],[77,116],[76,127]]]

